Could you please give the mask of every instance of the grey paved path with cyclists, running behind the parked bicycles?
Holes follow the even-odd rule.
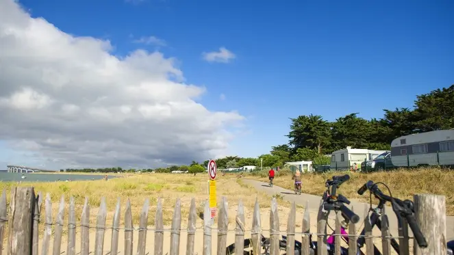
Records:
[[[281,187],[278,187],[276,185],[273,185],[273,187],[269,187],[268,183],[263,183],[258,180],[248,180],[244,179],[244,183],[247,183],[255,189],[259,191],[263,191],[264,193],[267,193],[270,196],[275,195],[276,193],[279,193],[280,195],[283,196],[283,200],[286,200],[288,202],[295,202],[296,204],[299,204],[301,206],[305,206],[306,202],[309,202],[309,209],[310,211],[318,211],[318,206],[320,206],[320,200],[321,196],[315,196],[315,195],[310,195],[310,194],[305,194],[302,193],[301,195],[295,195],[294,191],[290,191],[288,189],[283,189]],[[367,206],[369,207],[369,204],[364,203],[364,202],[357,202],[357,201],[351,201],[351,205],[353,206],[353,211],[360,216],[360,222],[363,221],[364,219],[364,208]],[[392,208],[390,206],[386,206],[386,215],[388,215],[388,219],[390,222],[390,232],[392,235],[397,236],[397,217],[392,211]],[[410,234],[412,234],[412,231],[409,230]],[[453,216],[446,216],[446,238],[448,240],[453,240],[454,239],[454,217]]]

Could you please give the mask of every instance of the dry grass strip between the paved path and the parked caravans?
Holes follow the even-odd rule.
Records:
[[[294,180],[288,170],[279,171],[274,183],[277,186],[293,189]],[[249,174],[248,178],[255,178],[268,182],[267,173]],[[303,193],[310,193],[321,196],[325,191],[325,181],[333,175],[349,174],[350,180],[344,183],[339,189],[339,193],[350,200],[360,200],[369,202],[369,196],[357,194],[359,189],[366,181],[373,180],[375,183],[382,182],[388,185],[392,196],[395,198],[413,200],[415,194],[433,193],[446,196],[446,214],[454,215],[454,172],[452,170],[442,170],[440,168],[426,168],[419,170],[395,170],[392,172],[373,172],[361,174],[359,172],[330,172],[325,174],[303,174]],[[381,186],[383,193],[388,193],[386,187]],[[368,194],[368,193],[367,193]]]

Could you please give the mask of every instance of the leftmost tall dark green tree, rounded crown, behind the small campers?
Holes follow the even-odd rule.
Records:
[[[298,116],[290,118],[290,133],[287,135],[290,139],[290,145],[293,146],[294,152],[298,148],[317,148],[318,154],[323,152],[323,148],[330,144],[330,126],[329,122],[323,120],[322,116]]]

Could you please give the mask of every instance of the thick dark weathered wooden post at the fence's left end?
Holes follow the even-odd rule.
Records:
[[[35,203],[33,187],[14,187],[12,189],[7,254],[31,254]]]

